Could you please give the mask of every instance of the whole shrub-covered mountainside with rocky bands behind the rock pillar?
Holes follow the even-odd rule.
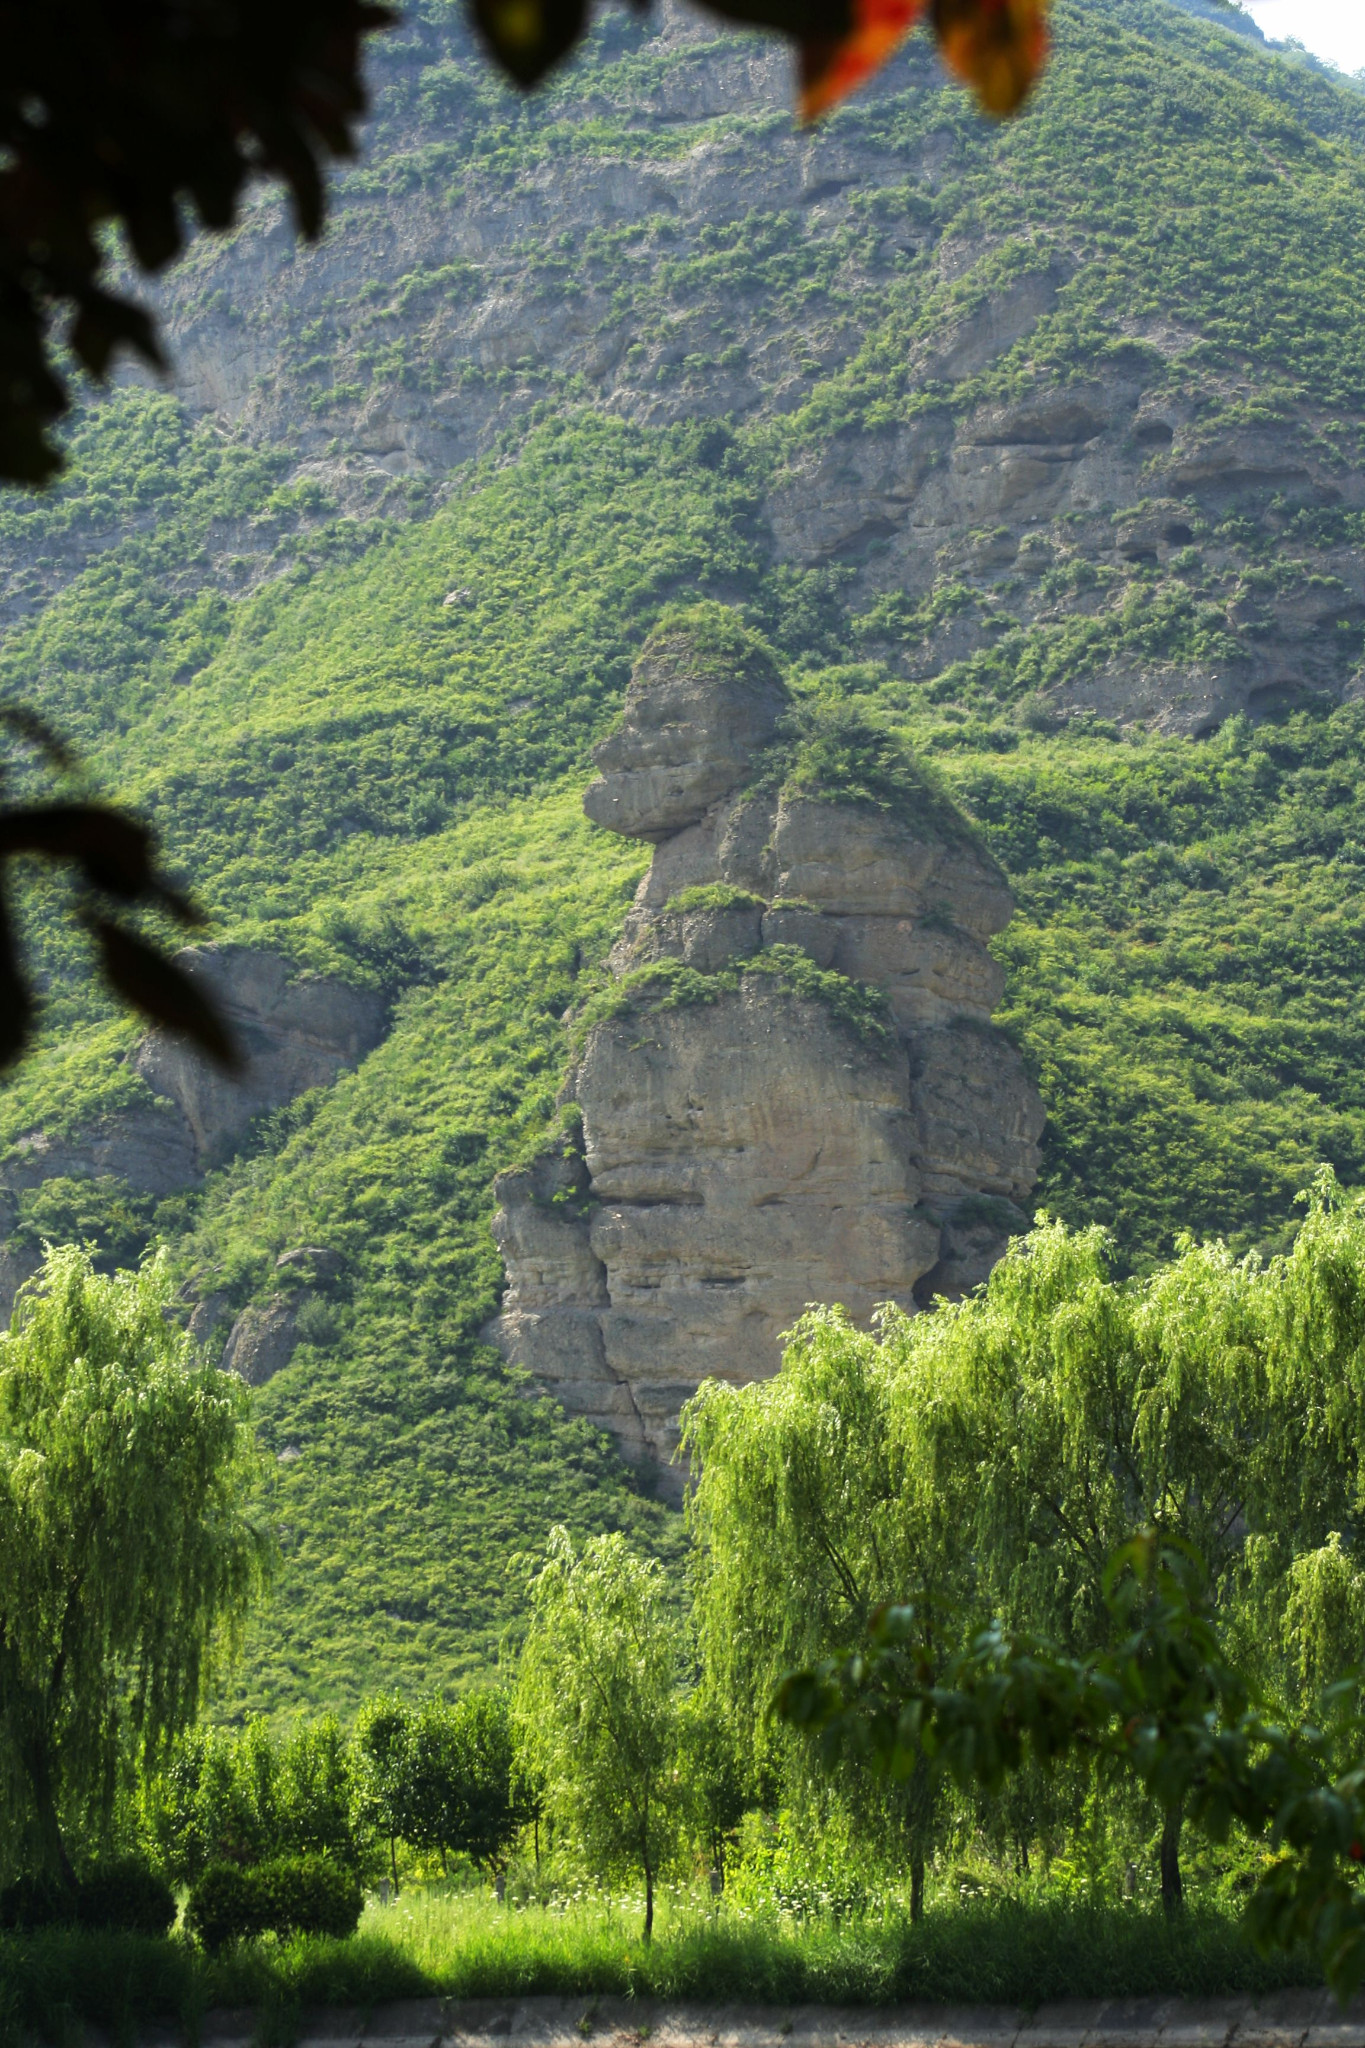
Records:
[[[1042,1202],[1142,1268],[1365,1174],[1365,100],[1205,12],[1062,0],[1005,129],[913,43],[796,133],[761,43],[610,12],[522,102],[422,0],[325,246],[262,197],[166,287],[180,391],[92,401],[0,502],[6,696],[215,938],[389,1004],[203,1188],[8,1200],[10,1247],[166,1239],[231,1309],[342,1255],[256,1397],[284,1571],[227,1712],[458,1683],[553,1522],[675,1542],[477,1337],[491,1176],[643,870],[587,750],[669,604],[739,608],[978,819]],[[10,1157],[145,1094],[57,905]]]

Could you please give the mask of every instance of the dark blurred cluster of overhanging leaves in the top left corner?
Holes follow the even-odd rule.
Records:
[[[323,162],[352,154],[364,111],[362,41],[393,18],[368,0],[0,0],[0,477],[59,467],[61,307],[96,377],[119,346],[160,362],[147,313],[100,283],[102,229],[160,270],[192,215],[229,227],[268,172],[315,236]]]

